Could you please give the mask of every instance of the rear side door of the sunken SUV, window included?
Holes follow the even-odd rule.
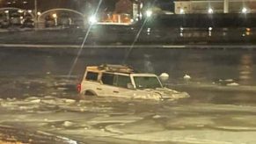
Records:
[[[113,73],[102,73],[101,85],[97,90],[100,96],[116,97],[118,94],[118,87],[115,85],[115,75]]]

